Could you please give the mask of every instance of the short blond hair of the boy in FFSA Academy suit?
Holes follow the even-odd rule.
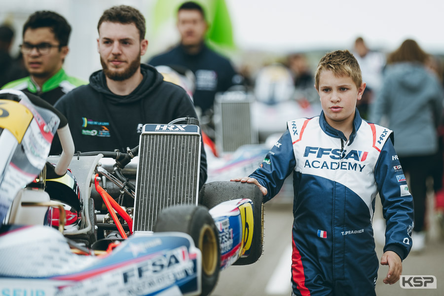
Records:
[[[332,71],[335,76],[347,75],[352,78],[357,88],[361,87],[361,68],[359,68],[356,58],[348,50],[329,52],[321,58],[315,74],[316,89],[319,87],[319,76],[325,70]]]

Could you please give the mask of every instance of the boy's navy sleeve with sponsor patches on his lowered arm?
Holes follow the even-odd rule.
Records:
[[[413,198],[390,140],[384,144],[375,166],[375,180],[386,220],[384,252],[393,251],[405,259],[411,249]]]

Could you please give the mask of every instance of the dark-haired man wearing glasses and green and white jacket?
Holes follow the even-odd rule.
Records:
[[[36,94],[49,104],[75,87],[87,82],[68,76],[63,62],[69,52],[71,26],[66,19],[52,11],[33,13],[23,26],[23,54],[29,76],[5,84],[12,88]]]

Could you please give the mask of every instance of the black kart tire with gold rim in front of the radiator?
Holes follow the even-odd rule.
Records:
[[[202,252],[202,293],[213,291],[219,278],[221,250],[219,230],[208,209],[202,206],[175,206],[164,209],[157,216],[154,232],[179,231],[191,236]]]

